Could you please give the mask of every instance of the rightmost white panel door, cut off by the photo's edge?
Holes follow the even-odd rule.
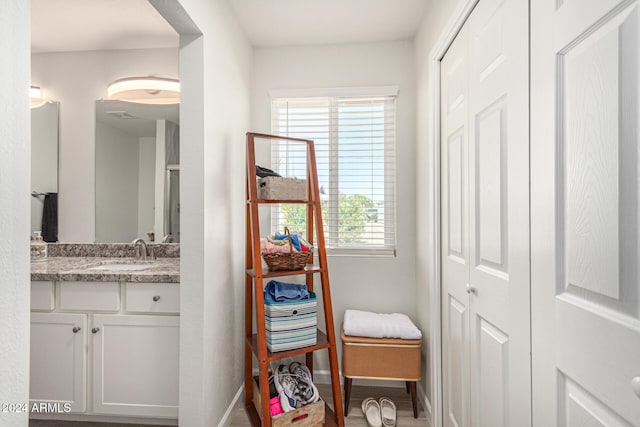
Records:
[[[640,426],[638,2],[531,12],[534,420]]]

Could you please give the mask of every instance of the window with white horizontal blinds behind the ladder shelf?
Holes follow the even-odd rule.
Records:
[[[271,130],[312,139],[330,253],[394,254],[395,96],[273,98]],[[273,142],[272,168],[306,178],[304,146]],[[304,230],[304,205],[272,208],[272,229]]]

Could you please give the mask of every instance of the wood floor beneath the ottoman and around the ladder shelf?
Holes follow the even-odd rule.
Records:
[[[331,387],[328,384],[318,384],[318,389],[322,398],[333,407],[333,399],[331,398]],[[411,406],[411,398],[404,388],[400,387],[365,387],[354,385],[351,388],[351,403],[349,405],[349,414],[345,418],[346,427],[366,427],[367,422],[364,419],[360,403],[366,397],[380,398],[382,396],[389,397],[394,401],[398,409],[398,427],[425,427],[429,423],[425,417],[424,411],[420,408],[418,418],[413,418],[413,407]],[[418,404],[419,405],[419,404]],[[237,408],[233,413],[231,427],[250,427],[251,423],[247,418],[244,408]]]

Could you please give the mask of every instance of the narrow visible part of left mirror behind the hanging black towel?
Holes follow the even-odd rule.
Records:
[[[58,111],[59,103],[48,101],[31,109],[31,232],[42,231],[45,196],[58,193]],[[48,208],[57,212],[57,201]],[[57,214],[56,214],[57,217]],[[50,218],[51,219],[51,218]],[[56,224],[51,224],[51,226]],[[57,232],[55,232],[57,235]],[[52,234],[53,235],[53,234]],[[53,240],[55,241],[55,240]]]

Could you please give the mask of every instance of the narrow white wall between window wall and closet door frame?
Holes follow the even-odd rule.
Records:
[[[423,369],[421,386],[423,387],[427,402],[431,408],[435,393],[434,378],[436,371],[434,360],[431,357],[436,348],[435,336],[431,333],[433,287],[436,265],[433,260],[436,236],[434,234],[435,221],[435,189],[434,171],[439,159],[434,158],[434,123],[433,123],[433,99],[435,75],[433,65],[434,49],[441,44],[440,38],[452,25],[453,16],[466,0],[435,1],[431,2],[429,11],[420,27],[414,41],[416,90],[417,90],[417,148],[416,158],[416,303],[418,306],[418,323],[423,331]],[[433,409],[433,408],[432,408]],[[432,410],[433,412],[433,410]],[[433,423],[432,423],[433,425]]]

